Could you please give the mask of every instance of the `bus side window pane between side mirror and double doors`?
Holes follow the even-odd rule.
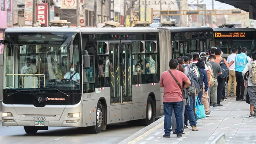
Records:
[[[94,92],[95,90],[94,65],[94,55],[90,55],[90,68],[83,69],[84,93]]]

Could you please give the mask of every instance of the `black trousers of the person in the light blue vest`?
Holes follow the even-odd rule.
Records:
[[[236,71],[235,72],[235,78],[236,78],[236,99],[240,100],[243,99],[243,94],[245,92],[245,86],[244,86],[244,80],[243,75],[241,72]]]

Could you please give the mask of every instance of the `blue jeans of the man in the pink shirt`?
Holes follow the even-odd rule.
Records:
[[[164,102],[164,133],[171,135],[172,127],[172,109],[174,110],[177,128],[175,129],[177,134],[182,134],[183,120],[182,109],[183,100],[181,102]]]

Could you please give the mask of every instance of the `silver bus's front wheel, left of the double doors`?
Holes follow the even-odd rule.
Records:
[[[104,124],[104,110],[102,108],[101,102],[98,102],[97,109],[96,109],[96,125],[92,126],[91,133],[92,134],[99,134],[102,131],[103,124]]]

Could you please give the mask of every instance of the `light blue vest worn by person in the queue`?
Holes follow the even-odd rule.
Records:
[[[240,53],[235,56],[235,71],[242,72],[245,68],[246,63],[248,63],[247,55]]]

